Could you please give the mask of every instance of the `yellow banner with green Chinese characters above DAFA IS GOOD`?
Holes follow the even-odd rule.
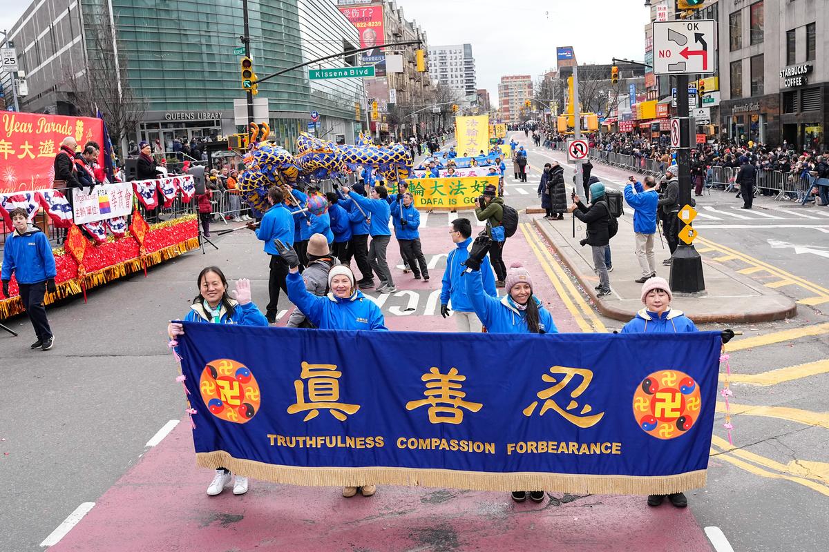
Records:
[[[474,209],[487,184],[497,187],[497,176],[414,178],[406,180],[416,209]]]

